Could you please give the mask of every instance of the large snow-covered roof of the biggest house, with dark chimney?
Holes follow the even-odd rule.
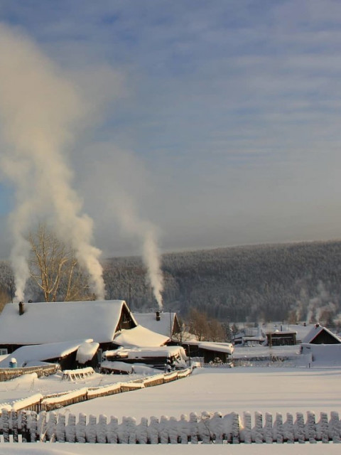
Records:
[[[92,338],[97,343],[112,341],[123,300],[7,304],[0,315],[0,344],[42,344]],[[133,318],[134,320],[134,318]]]

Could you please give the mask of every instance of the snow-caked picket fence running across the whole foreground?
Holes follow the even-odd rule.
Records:
[[[313,412],[286,414],[277,413],[263,416],[256,412],[251,419],[249,412],[244,413],[242,421],[239,414],[222,415],[220,412],[192,412],[180,419],[162,416],[160,419],[146,417],[136,422],[134,417],[94,415],[87,417],[79,414],[78,421],[74,414],[45,411],[16,412],[2,410],[0,434],[4,442],[18,441],[57,441],[102,444],[293,444],[341,442],[341,422],[337,412],[321,412],[317,420]]]

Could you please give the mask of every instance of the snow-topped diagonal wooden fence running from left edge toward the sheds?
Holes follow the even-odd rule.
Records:
[[[70,392],[45,396],[36,394],[12,403],[0,403],[0,409],[2,411],[6,410],[7,412],[10,412],[12,409],[16,411],[31,410],[35,412],[53,411],[61,407],[75,405],[75,403],[92,400],[93,398],[130,392],[131,390],[138,390],[153,385],[166,384],[166,382],[185,378],[190,373],[192,373],[192,370],[188,368],[187,370],[163,373],[130,382],[117,382],[116,384],[104,385],[102,387],[83,387],[82,389],[72,390]]]

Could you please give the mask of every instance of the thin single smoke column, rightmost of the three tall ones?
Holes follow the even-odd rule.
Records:
[[[162,295],[163,274],[161,272],[160,254],[156,228],[146,220],[141,220],[132,200],[124,193],[116,202],[115,213],[124,232],[139,237],[142,244],[142,259],[147,267],[148,279],[159,309],[163,309]]]

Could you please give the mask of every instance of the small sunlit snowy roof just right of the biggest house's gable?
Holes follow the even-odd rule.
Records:
[[[161,335],[160,333],[153,332],[146,327],[137,326],[129,328],[129,330],[122,330],[117,333],[114,342],[121,346],[161,346],[169,340],[169,336]]]

